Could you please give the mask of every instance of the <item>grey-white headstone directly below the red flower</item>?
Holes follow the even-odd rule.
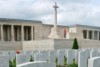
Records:
[[[17,54],[16,55],[16,64],[22,64],[22,63],[26,63],[26,62],[30,62],[30,56],[26,55],[26,54]]]

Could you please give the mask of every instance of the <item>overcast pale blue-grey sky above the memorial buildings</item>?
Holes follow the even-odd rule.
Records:
[[[100,26],[100,0],[0,0],[0,18],[53,24],[55,2],[59,6],[58,24]]]

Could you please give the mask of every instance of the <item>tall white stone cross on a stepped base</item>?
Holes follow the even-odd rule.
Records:
[[[51,28],[51,32],[50,32],[50,35],[48,36],[48,38],[58,39],[59,35],[57,33],[57,8],[59,8],[59,7],[57,6],[57,3],[55,3],[53,8],[55,10],[55,23],[54,23],[54,27]]]

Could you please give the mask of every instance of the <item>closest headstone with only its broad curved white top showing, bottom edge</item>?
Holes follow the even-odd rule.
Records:
[[[55,63],[36,61],[18,65],[17,67],[56,67]]]

